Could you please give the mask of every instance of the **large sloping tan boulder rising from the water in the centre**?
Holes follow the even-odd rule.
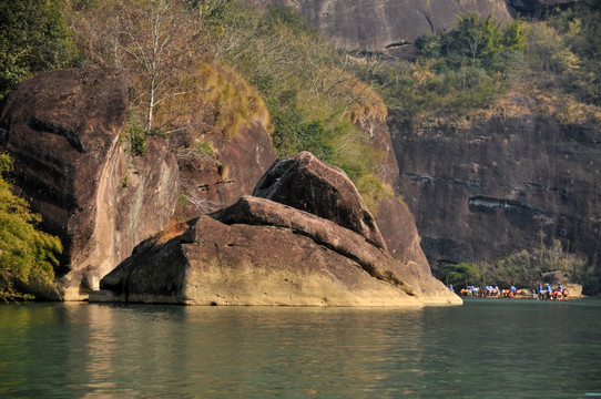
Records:
[[[281,193],[274,197],[287,198],[278,183],[266,182],[294,175],[291,164],[299,170],[310,165],[307,175],[336,174],[343,187],[350,183],[302,153],[274,165],[256,191],[271,186]],[[278,168],[287,174],[274,174]],[[329,193],[332,203],[346,206],[346,190]],[[361,209],[360,197],[357,201]],[[422,276],[417,264],[403,263],[374,245],[371,231],[364,232],[369,237],[295,207],[245,196],[214,217],[192,221],[164,244],[141,244],[102,279],[90,300],[406,307],[461,303],[431,275]]]

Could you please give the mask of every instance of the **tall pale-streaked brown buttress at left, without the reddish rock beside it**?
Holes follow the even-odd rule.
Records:
[[[59,298],[79,299],[165,227],[179,193],[175,160],[160,140],[146,155],[120,145],[128,76],[119,70],[63,70],[20,84],[0,114],[0,147],[43,228],[64,246]]]

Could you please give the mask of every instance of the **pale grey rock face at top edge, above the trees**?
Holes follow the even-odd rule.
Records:
[[[424,33],[452,27],[457,16],[479,12],[510,18],[503,0],[248,0],[255,4],[288,6],[339,47],[408,55]]]

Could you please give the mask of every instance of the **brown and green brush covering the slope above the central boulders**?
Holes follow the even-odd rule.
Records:
[[[279,155],[307,150],[369,182],[358,184],[366,196],[390,191],[375,175],[384,154],[354,124],[383,123],[384,102],[349,72],[347,54],[292,9],[80,0],[69,16],[85,64],[130,72],[131,104],[146,132],[185,131],[195,147],[210,140],[205,133],[228,140],[258,121]]]

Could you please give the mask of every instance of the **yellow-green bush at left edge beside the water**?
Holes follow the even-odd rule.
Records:
[[[0,154],[0,173],[12,166],[12,160]],[[62,252],[59,238],[35,228],[41,216],[11,192],[12,185],[0,174],[0,300],[23,296],[19,285],[32,280],[49,284],[54,278],[57,255]]]

